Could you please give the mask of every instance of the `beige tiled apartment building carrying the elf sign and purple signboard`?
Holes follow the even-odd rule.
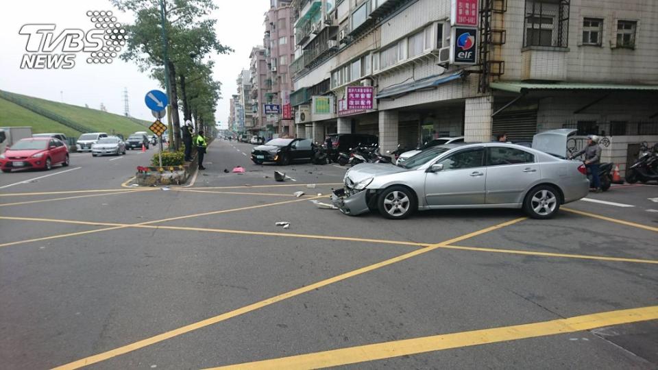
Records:
[[[622,6],[623,5],[623,6]],[[297,136],[658,140],[658,1],[295,0]],[[328,107],[329,106],[329,107]],[[604,158],[605,159],[605,158]]]

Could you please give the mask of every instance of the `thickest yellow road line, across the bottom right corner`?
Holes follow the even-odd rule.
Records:
[[[247,362],[239,365],[215,367],[213,369],[319,369],[340,365],[356,364],[359,362],[384,360],[386,358],[422,354],[444,349],[471,347],[489,343],[517,341],[525,338],[551,336],[582,332],[612,325],[637,323],[658,319],[658,306],[631,308],[629,310],[616,310],[585,314],[550,321],[539,321],[522,325],[503,326],[470,332],[440,334],[424,336],[421,338],[404,339],[360,345],[322,351],[311,354],[302,354],[284,358],[274,358],[256,362]]]

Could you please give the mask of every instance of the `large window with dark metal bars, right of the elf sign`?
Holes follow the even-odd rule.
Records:
[[[526,0],[524,47],[567,47],[570,0]]]

